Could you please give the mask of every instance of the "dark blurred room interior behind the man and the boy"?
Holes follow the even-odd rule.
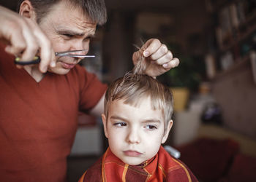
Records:
[[[1,0],[16,9],[16,1]],[[132,53],[151,38],[180,59],[159,76],[173,91],[173,129],[165,145],[200,181],[256,181],[256,1],[108,0],[108,23],[82,65],[110,83],[132,69]],[[108,147],[99,118],[81,114],[68,158],[69,181]]]

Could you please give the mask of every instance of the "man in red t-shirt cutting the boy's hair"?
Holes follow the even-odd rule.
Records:
[[[24,0],[19,14],[0,7],[0,39],[7,45],[0,46],[0,181],[66,181],[78,111],[102,114],[106,86],[76,66],[80,59],[54,52],[87,53],[97,23],[106,21],[105,3]],[[157,39],[141,50],[133,62],[143,54],[148,75],[178,65]],[[17,69],[13,55],[24,61],[39,55],[41,62]]]

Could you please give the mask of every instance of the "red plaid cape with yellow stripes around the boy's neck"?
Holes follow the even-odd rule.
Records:
[[[124,164],[108,148],[105,154],[82,175],[79,182],[119,181],[197,181],[195,175],[180,160],[173,159],[161,146],[152,159],[141,165]]]

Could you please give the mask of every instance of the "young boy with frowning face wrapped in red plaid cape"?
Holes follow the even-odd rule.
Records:
[[[161,146],[173,125],[170,90],[151,76],[133,73],[110,84],[102,114],[109,148],[82,181],[197,181]]]

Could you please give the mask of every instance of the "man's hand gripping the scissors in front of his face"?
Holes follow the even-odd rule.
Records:
[[[21,60],[33,60],[39,56],[39,70],[45,73],[48,66],[56,65],[56,58],[50,40],[37,23],[22,17],[10,9],[0,6],[0,41],[7,44],[6,52],[18,55]],[[21,68],[22,66],[17,66]]]

